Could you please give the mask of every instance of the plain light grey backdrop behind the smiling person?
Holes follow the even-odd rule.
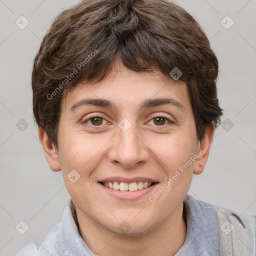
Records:
[[[0,0],[2,256],[13,255],[29,241],[38,247],[69,200],[61,172],[49,169],[38,141],[30,75],[52,19],[77,2]],[[222,121],[228,118],[215,130],[207,164],[201,175],[193,177],[189,194],[238,214],[256,214],[256,0],[176,2],[199,21],[219,59],[218,98],[224,108]],[[24,29],[15,24],[21,15],[29,21]],[[221,24],[226,15],[234,21],[229,29]],[[231,24],[225,20],[226,26]],[[16,126],[21,118],[28,123],[23,131]],[[23,235],[15,229],[21,220],[29,226]]]

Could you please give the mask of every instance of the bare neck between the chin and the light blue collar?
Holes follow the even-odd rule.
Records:
[[[99,256],[171,256],[180,249],[186,237],[183,202],[156,228],[133,236],[111,232],[92,222],[81,211],[76,213],[81,237]]]

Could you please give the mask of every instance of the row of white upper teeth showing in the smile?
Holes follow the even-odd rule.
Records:
[[[136,190],[141,190],[143,188],[147,188],[150,186],[152,182],[131,182],[131,183],[126,183],[126,182],[117,182],[117,181],[105,181],[103,182],[103,185],[115,190],[121,190],[121,191],[136,191]]]

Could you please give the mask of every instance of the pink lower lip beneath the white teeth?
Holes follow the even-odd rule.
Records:
[[[98,184],[105,189],[106,192],[108,192],[111,196],[114,196],[119,199],[137,199],[139,197],[142,197],[143,195],[149,193],[154,187],[158,184],[155,183],[147,188],[138,189],[136,191],[121,191],[121,190],[115,190],[113,188],[106,187],[98,182]]]

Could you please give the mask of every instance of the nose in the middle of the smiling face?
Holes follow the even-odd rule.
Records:
[[[125,168],[135,168],[145,163],[150,155],[144,136],[139,135],[135,124],[126,131],[117,127],[116,135],[111,140],[108,159]]]

